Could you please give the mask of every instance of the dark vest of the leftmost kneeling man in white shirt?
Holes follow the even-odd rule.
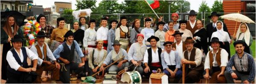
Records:
[[[25,47],[21,47],[21,50],[22,50],[22,54],[23,54],[23,58],[24,58],[23,62],[20,61],[20,57],[18,56],[18,54],[16,53],[14,48],[12,48],[10,51],[12,52],[12,55],[15,58],[16,62],[18,62],[18,64],[21,67],[27,68],[28,67],[28,63],[27,63],[26,58],[28,56],[27,56],[27,53],[26,53],[26,48]],[[11,73],[14,73],[14,74],[17,74],[17,75],[20,75],[21,73],[23,73],[22,71],[18,71],[18,70],[12,69],[9,64],[7,66],[7,70],[9,70]]]

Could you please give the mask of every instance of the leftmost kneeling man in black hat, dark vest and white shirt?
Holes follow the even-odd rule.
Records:
[[[7,52],[6,56],[8,62],[6,83],[32,83],[34,80],[28,81],[27,78],[29,72],[36,71],[38,56],[29,48],[22,47],[22,42],[24,42],[22,36],[15,35],[11,41],[13,48]],[[27,58],[33,61],[32,68],[28,66]]]

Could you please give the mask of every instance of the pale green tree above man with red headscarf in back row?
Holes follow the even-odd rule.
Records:
[[[176,2],[178,13],[188,13],[190,11],[190,3],[186,0],[178,0]],[[181,9],[180,9],[181,7]],[[181,11],[180,11],[181,10]]]

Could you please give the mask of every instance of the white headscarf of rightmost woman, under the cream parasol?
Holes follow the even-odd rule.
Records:
[[[238,40],[239,38],[239,34],[240,33],[242,33],[242,31],[240,30],[241,28],[241,25],[242,24],[245,24],[246,25],[246,31],[244,32],[244,41],[245,41],[245,43],[247,44],[247,45],[249,45],[249,43],[250,43],[250,30],[249,30],[249,28],[248,28],[248,26],[247,26],[247,24],[246,23],[244,23],[244,22],[242,22],[240,25],[239,25],[239,28],[238,28],[238,30],[237,30],[237,32],[236,32],[236,40]]]

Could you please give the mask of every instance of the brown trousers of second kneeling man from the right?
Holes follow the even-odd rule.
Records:
[[[224,75],[219,76],[219,78],[217,78],[218,74],[220,74],[221,71],[217,71],[215,73],[212,73],[212,78],[210,78],[210,84],[226,84],[226,78]]]

